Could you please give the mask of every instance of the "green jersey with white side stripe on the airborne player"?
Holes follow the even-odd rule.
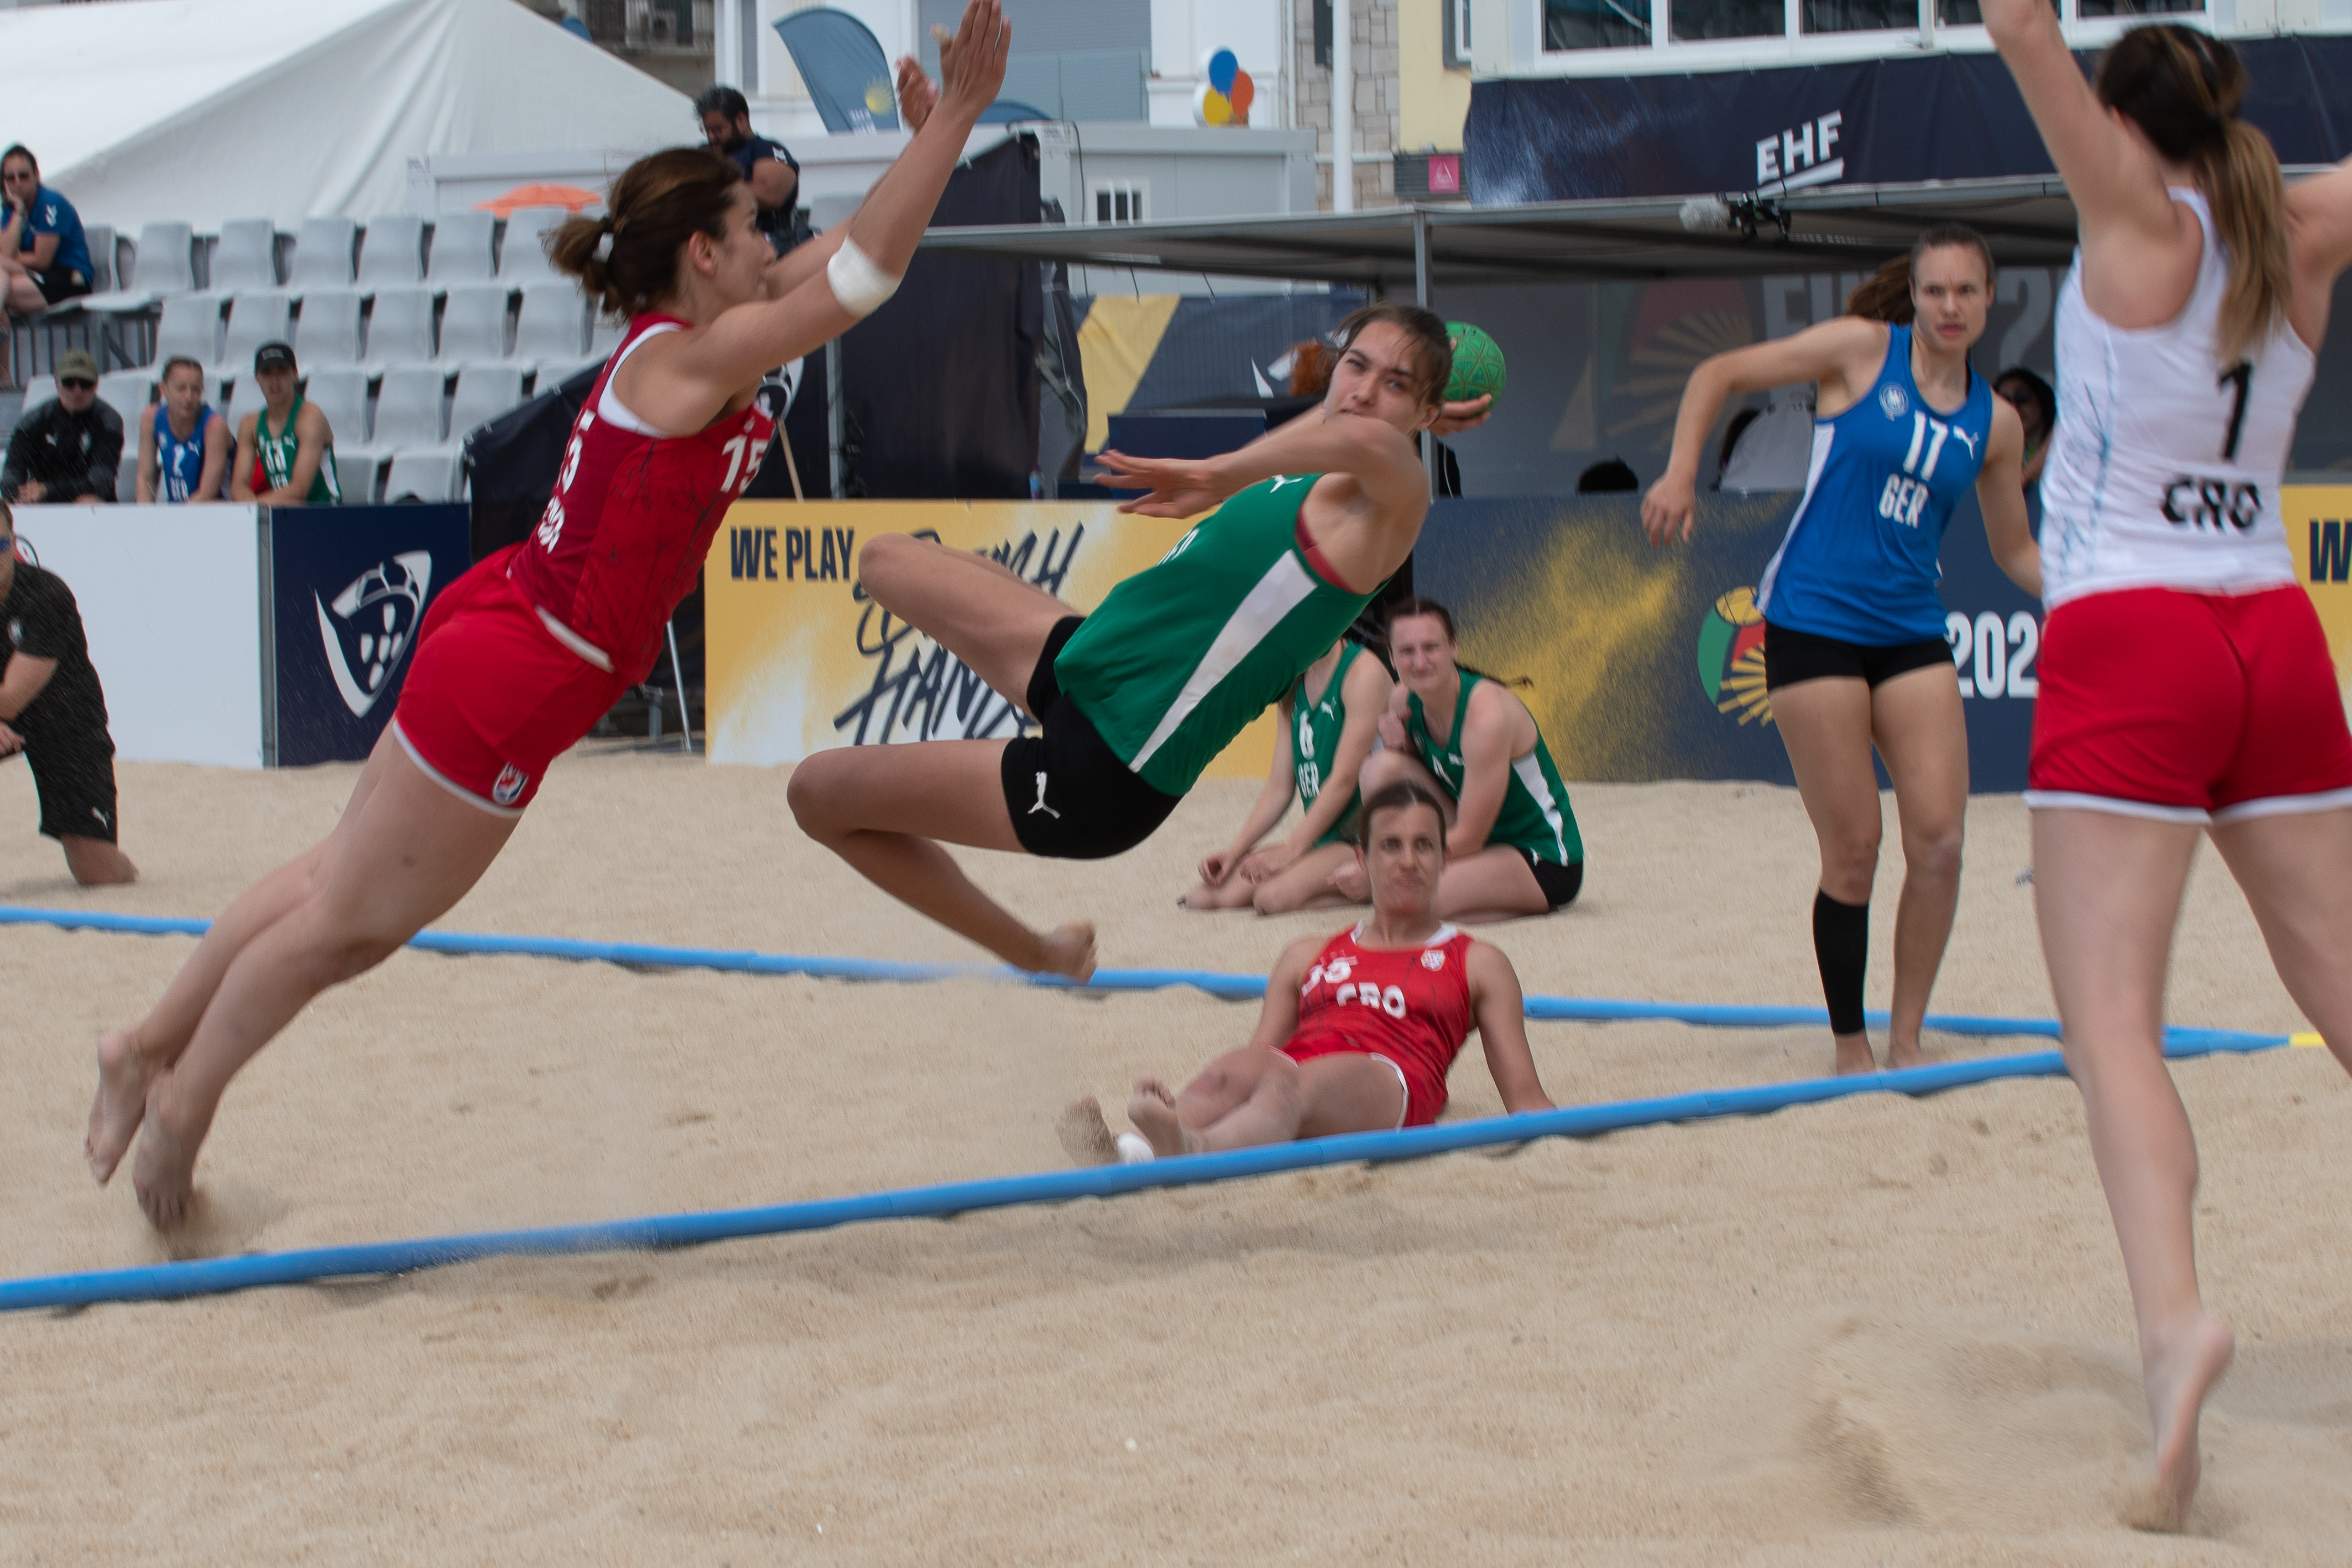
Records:
[[[1063,693],[1162,795],[1190,790],[1371,604],[1308,564],[1298,508],[1319,477],[1232,496],[1112,588],[1054,661]]]

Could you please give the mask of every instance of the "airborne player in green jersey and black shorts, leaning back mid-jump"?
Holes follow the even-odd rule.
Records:
[[[1108,473],[1148,491],[1122,512],[1200,522],[1089,616],[981,555],[873,538],[858,552],[873,602],[1040,733],[816,752],[788,792],[802,832],[1007,964],[1091,976],[1094,926],[1033,931],[943,844],[1127,853],[1404,564],[1430,510],[1416,440],[1479,423],[1484,404],[1442,402],[1454,348],[1428,310],[1364,306],[1336,336],[1319,411],[1204,461],[1103,454]]]

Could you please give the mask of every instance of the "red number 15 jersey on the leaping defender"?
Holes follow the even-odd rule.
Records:
[[[694,435],[661,435],[614,390],[621,364],[687,322],[640,315],[572,421],[572,442],[539,529],[508,569],[574,654],[640,682],[661,656],[661,630],[694,588],[710,536],[767,456],[776,421],[755,397]]]

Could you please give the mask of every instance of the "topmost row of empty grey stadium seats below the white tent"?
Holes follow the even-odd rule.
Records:
[[[543,235],[569,216],[562,207],[520,207],[506,219],[503,244],[499,219],[489,212],[445,212],[433,219],[430,235],[426,221],[412,212],[369,219],[365,230],[353,219],[303,219],[287,247],[285,275],[280,275],[278,226],[270,219],[230,219],[221,223],[202,287],[214,294],[285,289],[294,299],[310,289],[353,284],[374,289],[503,280],[508,287],[520,287],[555,277]],[[99,315],[136,313],[174,294],[195,292],[195,230],[188,223],[146,223],[122,268],[120,287],[59,308]]]

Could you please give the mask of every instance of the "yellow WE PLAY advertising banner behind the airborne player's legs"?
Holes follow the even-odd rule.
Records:
[[[974,550],[1087,611],[1112,583],[1167,555],[1188,524],[1122,517],[1087,501],[743,501],[703,564],[713,762],[771,766],[830,745],[993,741],[1021,712],[856,581],[875,534]],[[1211,776],[1263,776],[1272,717]]]

